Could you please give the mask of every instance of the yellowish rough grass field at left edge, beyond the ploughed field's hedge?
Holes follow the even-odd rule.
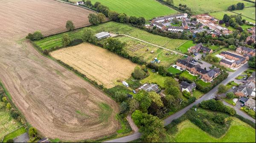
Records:
[[[7,112],[3,106],[5,106],[4,103],[0,102],[0,140],[8,132],[11,132],[21,126],[19,122],[10,116],[9,112]]]

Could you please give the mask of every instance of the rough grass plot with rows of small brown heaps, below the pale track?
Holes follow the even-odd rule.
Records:
[[[170,53],[170,51],[167,51],[167,50],[164,50],[162,48],[158,48],[158,47],[155,47],[152,45],[148,45],[146,43],[140,42],[139,40],[132,39],[128,36],[116,36],[115,38],[119,39],[122,42],[126,42],[125,50],[129,53],[129,55],[138,56],[148,63],[151,62],[154,58],[157,58],[158,60],[161,61],[157,65],[162,65],[162,66],[168,68],[172,64],[174,64],[177,61],[177,59],[180,59],[182,57],[179,54],[166,55],[166,53]],[[129,48],[139,45],[139,44],[144,44],[147,46],[144,48],[141,48],[139,50],[136,50],[134,52],[129,50]],[[148,51],[146,49],[148,49]],[[152,50],[154,50],[154,53],[150,53]]]

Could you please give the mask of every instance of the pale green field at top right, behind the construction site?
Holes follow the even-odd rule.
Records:
[[[245,7],[254,6],[254,3],[250,3],[244,0],[173,0],[175,6],[186,4],[192,9],[193,14],[204,14],[216,11],[225,11],[227,7],[236,4],[244,3]]]

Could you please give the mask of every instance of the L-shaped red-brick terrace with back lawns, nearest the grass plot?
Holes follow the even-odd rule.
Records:
[[[212,81],[212,79],[214,79],[221,73],[221,70],[219,68],[214,68],[208,71],[201,68],[199,64],[194,65],[183,59],[178,59],[176,65],[182,67],[185,70],[188,70],[192,74],[200,75],[201,79],[207,82]]]

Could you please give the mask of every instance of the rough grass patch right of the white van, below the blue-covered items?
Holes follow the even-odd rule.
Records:
[[[143,83],[157,83],[160,85],[161,88],[164,87],[164,81],[168,76],[162,76],[157,73],[151,72],[151,69],[148,69],[149,76],[146,77],[145,79],[142,79],[140,82]]]

